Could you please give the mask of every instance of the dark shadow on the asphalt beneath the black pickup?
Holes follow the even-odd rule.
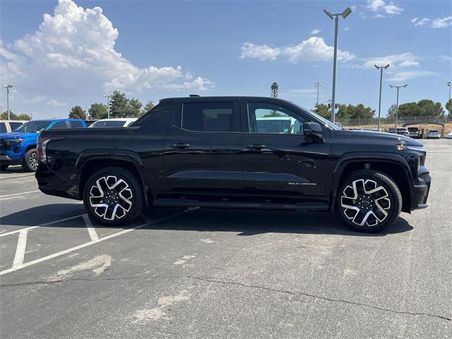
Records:
[[[381,237],[386,234],[408,232],[413,229],[403,214],[389,230],[378,234],[355,232],[350,230],[334,213],[280,211],[280,210],[225,210],[225,209],[196,209],[189,213],[181,213],[181,209],[151,208],[145,211],[145,221],[142,217],[133,223],[119,227],[109,227],[93,222],[96,228],[126,229],[149,222],[143,230],[181,230],[194,232],[234,232],[238,236],[249,236],[262,233],[293,233],[293,234],[337,234],[355,237]],[[36,226],[47,222],[52,225],[42,227],[86,227],[81,217],[71,220],[66,218],[85,214],[81,203],[62,203],[38,206],[21,210],[0,218],[1,225],[8,226]],[[178,214],[179,213],[179,214]],[[172,215],[176,215],[174,218]],[[160,222],[162,218],[167,218]],[[61,220],[60,222],[56,222]],[[11,227],[4,227],[9,232]]]

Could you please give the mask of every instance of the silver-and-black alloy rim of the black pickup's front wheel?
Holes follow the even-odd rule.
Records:
[[[358,179],[345,186],[340,196],[345,218],[358,226],[374,227],[388,217],[391,198],[374,180]]]

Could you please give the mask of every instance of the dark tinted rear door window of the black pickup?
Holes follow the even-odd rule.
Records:
[[[234,102],[188,102],[182,107],[182,129],[233,132],[233,115]]]

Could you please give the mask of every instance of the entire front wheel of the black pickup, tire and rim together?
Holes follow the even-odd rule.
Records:
[[[363,169],[352,172],[342,182],[337,207],[340,217],[352,229],[376,233],[396,221],[402,209],[402,195],[386,174]]]

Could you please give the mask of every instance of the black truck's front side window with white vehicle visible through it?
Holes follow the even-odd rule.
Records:
[[[285,107],[248,102],[249,133],[302,134],[304,119]]]

